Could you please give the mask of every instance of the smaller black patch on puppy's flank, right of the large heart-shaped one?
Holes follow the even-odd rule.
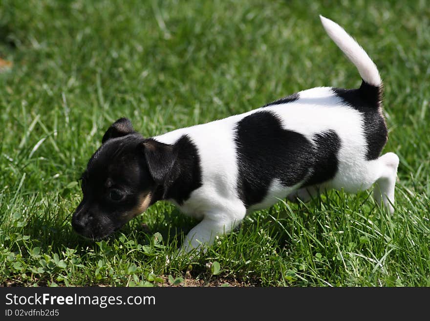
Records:
[[[341,139],[334,130],[317,133],[313,137],[315,149],[315,164],[311,176],[302,187],[321,184],[332,179],[338,171],[338,151]]]

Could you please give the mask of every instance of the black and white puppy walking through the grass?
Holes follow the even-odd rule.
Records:
[[[73,214],[81,235],[102,238],[158,200],[201,219],[183,251],[210,245],[244,216],[279,198],[310,199],[320,189],[366,190],[393,212],[399,158],[388,152],[382,82],[363,48],[320,17],[355,64],[358,89],[316,87],[246,113],[144,138],[126,118],[105,133],[82,175]]]

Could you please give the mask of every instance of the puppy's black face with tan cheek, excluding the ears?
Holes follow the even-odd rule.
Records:
[[[106,141],[82,175],[83,199],[72,226],[86,237],[110,235],[151,204],[155,184],[138,134]]]

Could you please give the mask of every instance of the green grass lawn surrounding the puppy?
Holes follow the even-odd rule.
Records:
[[[78,177],[117,118],[153,136],[305,88],[359,86],[319,14],[384,79],[384,152],[401,160],[393,215],[371,191],[283,201],[193,258],[173,256],[195,221],[169,203],[101,242],[73,232]],[[430,286],[429,17],[425,1],[3,0],[0,57],[13,68],[0,73],[0,284]]]

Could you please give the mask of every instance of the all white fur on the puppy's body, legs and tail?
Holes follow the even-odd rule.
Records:
[[[369,84],[381,85],[378,69],[366,52],[338,24],[321,17],[329,36],[354,63],[362,78]],[[398,157],[388,153],[379,159],[366,161],[366,139],[363,132],[363,116],[356,109],[344,106],[330,87],[317,87],[301,91],[300,99],[294,102],[265,107],[279,116],[285,129],[303,134],[312,141],[315,133],[335,130],[341,139],[338,151],[339,168],[333,179],[322,186],[296,191],[301,183],[285,187],[276,179],[265,199],[249,210],[266,208],[275,204],[279,198],[296,196],[310,198],[319,188],[344,189],[356,193],[377,182],[375,200],[393,211],[394,185]],[[228,233],[243,219],[246,208],[237,194],[237,152],[234,132],[237,122],[261,110],[216,120],[203,125],[180,128],[154,137],[154,139],[173,144],[186,134],[197,147],[200,156],[203,185],[194,190],[180,209],[196,218],[202,219],[187,235],[182,250],[190,251],[201,244],[211,244],[216,235]],[[310,173],[309,173],[310,174]]]

